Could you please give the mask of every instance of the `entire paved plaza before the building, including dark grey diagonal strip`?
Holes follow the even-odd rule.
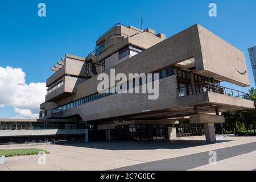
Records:
[[[150,142],[89,142],[10,148],[41,148],[49,151],[46,165],[38,155],[6,158],[0,170],[254,170],[256,137],[217,137],[207,144],[204,137]],[[209,164],[209,151],[216,151],[217,164]]]

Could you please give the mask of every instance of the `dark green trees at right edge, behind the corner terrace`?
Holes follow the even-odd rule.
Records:
[[[251,100],[256,103],[256,89],[251,88],[249,90]],[[255,105],[256,107],[256,105]],[[243,111],[229,111],[224,113],[226,123],[224,128],[226,132],[244,133],[253,129],[255,133],[256,122],[256,109],[243,110]]]

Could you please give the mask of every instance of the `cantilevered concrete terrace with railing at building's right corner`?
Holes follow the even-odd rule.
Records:
[[[177,88],[178,110],[199,114],[254,109],[250,94],[225,86],[201,82]],[[191,115],[190,114],[190,115]]]

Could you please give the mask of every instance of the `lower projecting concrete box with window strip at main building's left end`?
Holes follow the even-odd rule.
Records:
[[[76,93],[76,86],[85,81],[84,78],[64,76],[47,89],[46,102],[56,102]]]

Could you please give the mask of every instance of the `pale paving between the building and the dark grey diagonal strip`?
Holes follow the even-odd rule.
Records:
[[[228,137],[228,140],[219,140],[214,144],[205,143],[204,137],[186,137],[172,141],[89,142],[72,145],[29,146],[27,148],[41,148],[50,152],[46,155],[46,165],[38,164],[38,155],[15,156],[6,158],[6,164],[0,165],[0,170],[109,170],[252,142],[256,142],[256,137]],[[10,146],[8,148],[26,147]],[[0,146],[0,149],[7,148],[1,148]],[[244,162],[241,161],[241,164],[246,164],[247,161],[245,159]],[[253,163],[255,164],[254,160]],[[236,165],[239,169],[239,163],[236,163]],[[243,168],[241,167],[241,169]]]

